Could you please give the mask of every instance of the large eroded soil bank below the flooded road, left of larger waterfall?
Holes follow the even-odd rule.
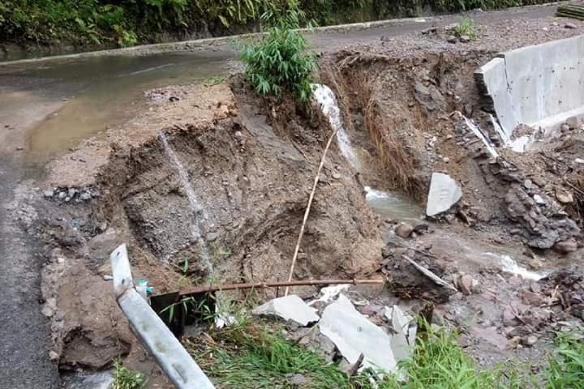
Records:
[[[91,188],[60,188],[43,201],[39,233],[53,249],[44,271],[46,313],[62,369],[101,369],[135,344],[103,279],[111,274],[108,255],[117,244],[129,244],[134,277],[147,278],[157,292],[210,279],[287,278],[328,125],[317,111],[293,103],[259,101],[225,85],[199,93],[203,89],[188,94],[210,92],[215,100],[164,103],[199,104],[212,113],[204,123],[164,130],[180,167],[158,133],[144,129],[140,145],[114,145]],[[383,243],[362,190],[333,147],[296,278],[376,270]]]

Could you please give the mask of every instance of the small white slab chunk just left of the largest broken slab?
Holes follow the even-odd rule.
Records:
[[[275,315],[284,320],[292,320],[300,325],[308,325],[318,321],[314,310],[296,295],[279,297],[257,307],[252,311],[255,315]]]

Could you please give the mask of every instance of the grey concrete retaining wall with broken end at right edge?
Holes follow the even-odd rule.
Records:
[[[519,124],[554,129],[584,115],[584,36],[503,52],[475,79],[507,138]]]

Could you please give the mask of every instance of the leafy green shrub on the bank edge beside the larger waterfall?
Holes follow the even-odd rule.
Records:
[[[307,51],[307,39],[295,30],[303,13],[298,11],[295,2],[290,4],[283,15],[265,13],[262,16],[264,20],[278,21],[259,42],[244,45],[241,59],[257,93],[280,97],[286,91],[306,102],[312,94],[315,54]]]

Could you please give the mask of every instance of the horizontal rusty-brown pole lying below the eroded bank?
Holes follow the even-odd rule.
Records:
[[[303,285],[381,285],[383,279],[304,279],[300,281],[275,281],[275,282],[249,282],[232,283],[225,285],[203,285],[187,289],[180,292],[179,296],[195,295],[204,292],[217,292],[218,290],[237,290],[255,288],[278,288],[280,286],[303,286]]]

